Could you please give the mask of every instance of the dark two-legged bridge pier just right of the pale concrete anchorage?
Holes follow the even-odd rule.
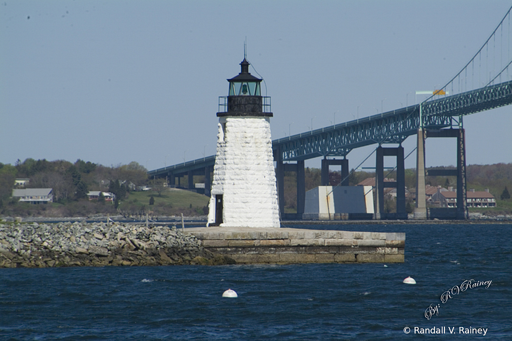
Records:
[[[396,181],[384,182],[384,157],[396,156]],[[406,211],[406,172],[403,161],[403,147],[377,148],[375,162],[376,210],[375,219],[404,219],[407,220]],[[396,188],[396,214],[384,211],[384,188]]]

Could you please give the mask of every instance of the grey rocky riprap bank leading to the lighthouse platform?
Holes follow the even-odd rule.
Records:
[[[0,268],[230,263],[176,227],[0,223]]]

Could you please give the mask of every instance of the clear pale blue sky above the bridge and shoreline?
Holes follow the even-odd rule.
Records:
[[[509,7],[438,0],[5,0],[0,162],[137,161],[151,170],[214,155],[218,97],[240,72],[245,39],[248,60],[272,97],[273,139],[398,109],[415,102],[416,90],[450,80]],[[512,38],[507,30],[500,39]],[[508,60],[494,59],[493,68]],[[465,117],[467,164],[512,162],[511,111]],[[426,141],[428,166],[455,164],[451,140]],[[406,154],[414,145],[414,136],[404,142]],[[352,151],[350,166],[372,150]],[[406,166],[414,167],[414,159]],[[365,166],[374,163],[371,157]],[[306,164],[320,167],[319,159]]]

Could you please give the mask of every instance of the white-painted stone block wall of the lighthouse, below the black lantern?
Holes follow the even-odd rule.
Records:
[[[217,195],[223,195],[221,226],[280,226],[268,118],[221,118],[209,224],[216,221]]]

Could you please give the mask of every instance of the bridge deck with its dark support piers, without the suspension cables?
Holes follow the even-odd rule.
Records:
[[[272,141],[274,161],[276,161],[276,179],[279,195],[281,217],[284,215],[284,172],[297,173],[297,214],[285,218],[301,219],[304,213],[305,179],[304,160],[323,157],[322,185],[328,185],[329,165],[342,166],[342,185],[348,185],[347,154],[354,148],[378,144],[376,153],[376,218],[407,219],[405,210],[405,187],[403,171],[403,147],[401,142],[407,137],[422,132],[418,138],[417,158],[423,158],[417,169],[424,169],[424,138],[457,137],[457,170],[430,171],[426,175],[457,176],[457,218],[465,215],[465,150],[462,116],[512,104],[512,81],[488,86],[452,96],[443,96],[435,100],[406,106],[405,108],[381,113],[346,123],[335,124],[321,129],[292,135]],[[422,127],[420,130],[420,105]],[[382,147],[382,144],[398,144],[398,147]],[[383,156],[397,157],[397,181],[383,182]],[[328,159],[343,157],[343,159]],[[285,163],[286,161],[286,163]],[[204,175],[206,196],[210,195],[211,174],[214,169],[215,156],[179,163],[148,172],[148,176],[167,178],[170,186],[181,186],[180,180],[188,176],[188,189],[194,189],[194,175]],[[419,179],[421,171],[418,172]],[[423,172],[424,174],[424,172]],[[176,184],[178,178],[178,184]],[[423,177],[424,179],[424,177]],[[423,180],[424,182],[424,180]],[[421,182],[420,182],[421,183]],[[397,188],[397,212],[395,215],[383,214],[383,188]],[[418,204],[417,204],[418,206]],[[420,205],[421,207],[421,205]],[[426,218],[426,217],[425,217]],[[453,217],[455,218],[455,217]]]

